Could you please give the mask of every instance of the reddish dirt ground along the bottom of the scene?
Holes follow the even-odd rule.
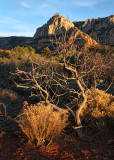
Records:
[[[26,142],[11,117],[0,117],[0,160],[113,160],[114,140],[96,138],[82,141],[61,134],[49,146],[35,147]]]

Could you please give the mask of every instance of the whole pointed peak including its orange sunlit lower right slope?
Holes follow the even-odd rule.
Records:
[[[80,47],[85,44],[87,46],[97,44],[97,42],[89,35],[83,33],[75,27],[72,22],[57,13],[50,18],[45,25],[37,29],[33,38],[27,45],[34,47],[38,52],[40,52],[44,47],[48,46],[51,48],[52,40],[55,43],[57,40],[56,37],[61,38],[63,33],[66,33],[67,41],[69,41],[69,43],[75,42],[76,44],[79,44]]]

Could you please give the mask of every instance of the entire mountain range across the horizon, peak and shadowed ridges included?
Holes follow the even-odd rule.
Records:
[[[12,49],[17,45],[31,46],[40,53],[45,47],[53,48],[52,41],[55,42],[56,37],[61,38],[62,33],[66,33],[67,42],[75,42],[80,47],[98,44],[114,46],[114,15],[72,23],[57,13],[42,27],[37,28],[32,38],[0,38],[0,49]]]

